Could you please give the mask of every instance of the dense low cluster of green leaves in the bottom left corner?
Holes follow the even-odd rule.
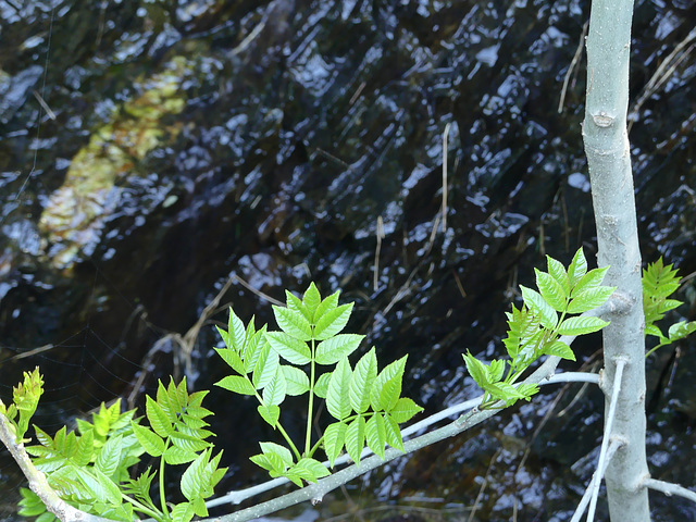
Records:
[[[101,406],[91,422],[77,421],[77,430],[63,426],[53,437],[36,427],[40,445],[26,448],[34,464],[42,471],[51,487],[69,504],[82,511],[112,520],[132,521],[136,512],[158,522],[188,522],[195,515],[206,517],[204,499],[226,469],[219,469],[221,453],[212,457],[213,434],[206,430],[203,419],[211,414],[201,406],[208,391],[188,394],[186,380],[178,386],[161,382],[157,399],[147,397],[146,419],[149,427],[135,419],[135,410],[121,413],[121,401]],[[150,496],[158,471],[148,468],[136,478],[130,468],[140,462],[144,453],[160,459],[160,506]],[[186,502],[171,509],[164,497],[166,465],[188,464],[181,480]],[[41,500],[23,488],[20,514],[39,515],[50,522]]]

